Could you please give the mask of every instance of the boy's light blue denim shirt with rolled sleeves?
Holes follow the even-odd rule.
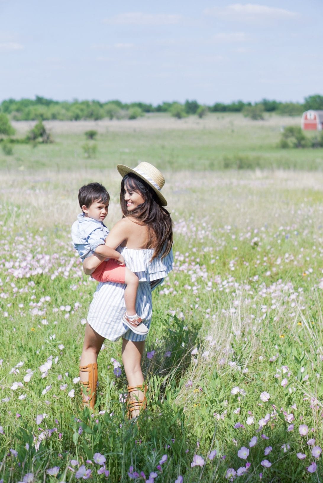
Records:
[[[104,245],[109,234],[108,228],[102,223],[84,213],[77,215],[72,225],[72,243],[82,260],[93,255],[99,245]]]

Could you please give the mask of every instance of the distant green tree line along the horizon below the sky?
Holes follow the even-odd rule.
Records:
[[[213,105],[201,105],[196,100],[180,102],[162,102],[157,106],[145,102],[122,103],[119,100],[100,102],[98,100],[57,101],[36,96],[35,99],[6,99],[0,104],[0,113],[7,114],[12,120],[99,120],[109,119],[136,119],[145,113],[171,113],[181,118],[196,114],[203,117],[207,112],[237,113],[242,112],[253,119],[262,119],[263,114],[276,113],[280,115],[299,115],[308,109],[323,110],[323,96],[315,94],[304,99],[304,103],[279,102],[262,99],[259,102],[243,102],[238,100],[225,104],[215,102]]]

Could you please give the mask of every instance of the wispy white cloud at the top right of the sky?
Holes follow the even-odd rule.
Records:
[[[259,19],[292,19],[298,14],[282,8],[268,7],[267,5],[257,5],[254,3],[233,3],[224,8],[213,7],[204,10],[206,15],[226,17],[229,20],[259,20]]]

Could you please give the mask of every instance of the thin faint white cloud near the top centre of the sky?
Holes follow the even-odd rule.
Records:
[[[181,15],[129,12],[105,18],[103,23],[109,25],[175,25],[180,22],[181,18]]]

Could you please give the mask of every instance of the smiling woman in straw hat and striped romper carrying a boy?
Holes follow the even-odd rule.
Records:
[[[158,285],[173,265],[172,220],[161,189],[162,173],[142,162],[133,170],[118,165],[123,176],[120,205],[123,218],[110,231],[107,245],[119,251],[127,267],[139,278],[136,312],[150,327],[152,316],[151,289]],[[84,261],[85,273],[91,273],[102,258],[93,255]],[[97,384],[97,356],[104,339],[122,337],[122,362],[128,380],[128,417],[136,417],[146,407],[146,386],[141,370],[141,357],[146,334],[132,332],[122,322],[125,313],[125,285],[100,283],[88,311],[88,323],[80,365],[81,384],[86,388],[90,407],[94,408]],[[85,398],[84,401],[88,400]]]

